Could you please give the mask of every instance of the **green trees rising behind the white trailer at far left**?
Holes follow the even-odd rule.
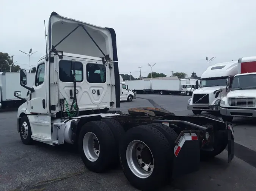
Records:
[[[9,65],[8,65],[8,63],[9,63]],[[15,65],[13,63],[13,59],[9,56],[8,53],[0,52],[0,72],[9,72],[10,65],[11,65],[11,72],[19,72],[20,71],[20,66]],[[36,67],[31,68],[31,71],[28,71],[28,72],[35,73]]]

